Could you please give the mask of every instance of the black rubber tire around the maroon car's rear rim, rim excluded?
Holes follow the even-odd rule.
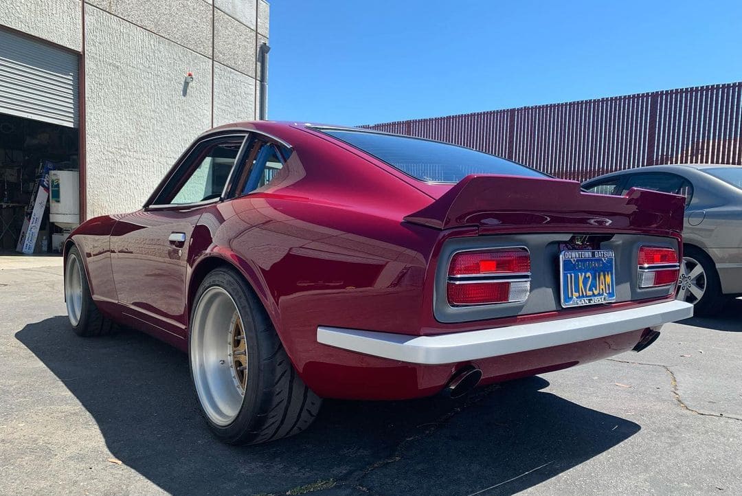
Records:
[[[258,444],[289,437],[307,429],[315,420],[322,400],[299,377],[265,308],[237,271],[217,268],[206,275],[194,298],[190,322],[195,322],[194,314],[200,298],[214,286],[222,288],[232,297],[242,318],[249,379],[242,406],[229,425],[214,423],[199,398],[201,413],[211,431],[228,444]],[[191,336],[189,332],[188,363],[191,382],[198,396],[193,365],[194,340],[191,340]]]

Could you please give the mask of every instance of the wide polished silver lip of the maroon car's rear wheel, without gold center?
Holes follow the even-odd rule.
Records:
[[[244,320],[232,295],[220,286],[211,286],[196,302],[188,347],[191,375],[198,400],[206,417],[221,427],[234,422],[240,414],[245,396],[232,368],[229,345],[231,331],[226,326],[220,326],[220,320],[229,322],[233,314],[224,315],[225,312],[217,312],[211,308],[214,305],[217,305],[216,308],[223,308],[227,303],[237,312],[244,328]],[[223,336],[219,336],[222,331]],[[220,363],[220,360],[224,363]]]

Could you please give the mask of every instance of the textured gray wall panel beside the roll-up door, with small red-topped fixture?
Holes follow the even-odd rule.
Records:
[[[211,127],[211,60],[85,7],[87,214],[142,206],[188,144]],[[183,96],[186,70],[194,82]]]

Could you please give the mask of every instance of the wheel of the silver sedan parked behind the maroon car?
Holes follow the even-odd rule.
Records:
[[[692,303],[697,315],[715,314],[723,307],[724,300],[714,262],[697,248],[686,247],[683,251],[678,299]]]

